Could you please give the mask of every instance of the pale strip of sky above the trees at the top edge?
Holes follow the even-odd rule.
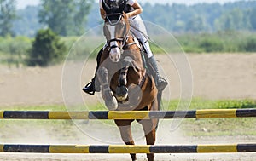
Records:
[[[96,0],[98,1],[98,0]],[[239,0],[138,0],[139,3],[183,3],[183,4],[195,4],[195,3],[228,3]],[[18,9],[24,9],[27,5],[37,5],[40,0],[17,0]]]

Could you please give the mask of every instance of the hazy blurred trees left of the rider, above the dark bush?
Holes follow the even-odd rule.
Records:
[[[0,0],[0,36],[33,37],[49,27],[61,36],[84,33],[93,0],[40,0],[38,6],[16,9],[16,0]]]

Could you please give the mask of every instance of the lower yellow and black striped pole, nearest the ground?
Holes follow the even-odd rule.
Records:
[[[0,152],[32,153],[215,153],[256,152],[256,144],[186,145],[186,146],[75,146],[75,145],[0,145]]]

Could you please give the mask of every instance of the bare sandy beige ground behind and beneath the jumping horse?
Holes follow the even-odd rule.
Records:
[[[187,55],[188,66],[191,66],[193,77],[192,85],[186,86],[183,83],[183,68],[179,68],[176,63],[176,55],[157,56],[160,62],[162,75],[167,78],[169,86],[165,95],[167,99],[178,99],[181,94],[193,92],[193,97],[200,97],[210,100],[216,99],[256,99],[256,54],[215,54],[215,55]],[[187,63],[183,61],[182,63]],[[26,105],[53,105],[64,104],[77,101],[77,95],[82,98],[85,104],[101,101],[100,95],[84,95],[81,88],[90,81],[94,70],[95,61],[85,63],[71,63],[66,67],[51,66],[47,68],[21,67],[8,68],[0,66],[0,106],[1,110],[8,110],[12,106]],[[82,68],[81,68],[82,66]],[[64,69],[64,70],[62,70]],[[71,70],[71,71],[69,71]],[[63,78],[73,78],[77,76],[77,82],[67,88]],[[64,76],[63,76],[64,75]],[[190,84],[189,83],[189,84]],[[184,87],[185,89],[181,89]],[[191,88],[191,89],[190,89]],[[70,101],[67,98],[69,91],[77,91]],[[187,92],[189,91],[189,92]],[[64,100],[63,100],[64,96]],[[68,101],[68,102],[67,102]],[[80,100],[79,100],[80,101]],[[168,124],[168,123],[167,123]],[[30,144],[104,144],[88,138],[81,133],[77,126],[73,127],[74,135],[60,135],[54,133],[50,128],[36,129],[27,127],[11,127],[14,129],[8,137],[2,137],[1,143],[30,143]],[[49,134],[49,130],[52,130]],[[101,137],[102,129],[94,129],[96,135]],[[27,134],[28,133],[28,134]],[[36,135],[35,135],[36,133]],[[59,131],[58,131],[59,133]],[[65,133],[65,129],[63,129]],[[118,132],[117,132],[118,133]],[[1,134],[1,133],[0,133]],[[105,134],[104,134],[105,135]],[[119,138],[114,136],[114,139]],[[0,135],[1,137],[1,135]],[[113,138],[108,138],[109,140]],[[188,137],[184,136],[179,129],[171,130],[166,128],[166,124],[160,124],[157,144],[235,144],[256,142],[255,137],[250,136],[227,136],[227,137]],[[143,144],[143,140],[138,140],[137,144]],[[0,154],[0,160],[130,160],[128,154]],[[145,160],[144,154],[138,154],[138,160]],[[218,153],[218,154],[157,154],[156,160],[256,160],[256,153]]]

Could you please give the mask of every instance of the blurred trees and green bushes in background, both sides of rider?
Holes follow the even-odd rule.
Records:
[[[0,0],[0,63],[54,64],[67,53],[72,36],[102,24],[94,0],[40,0],[26,9],[16,5],[16,0]],[[143,20],[174,33],[186,52],[256,51],[256,1],[142,5]]]

